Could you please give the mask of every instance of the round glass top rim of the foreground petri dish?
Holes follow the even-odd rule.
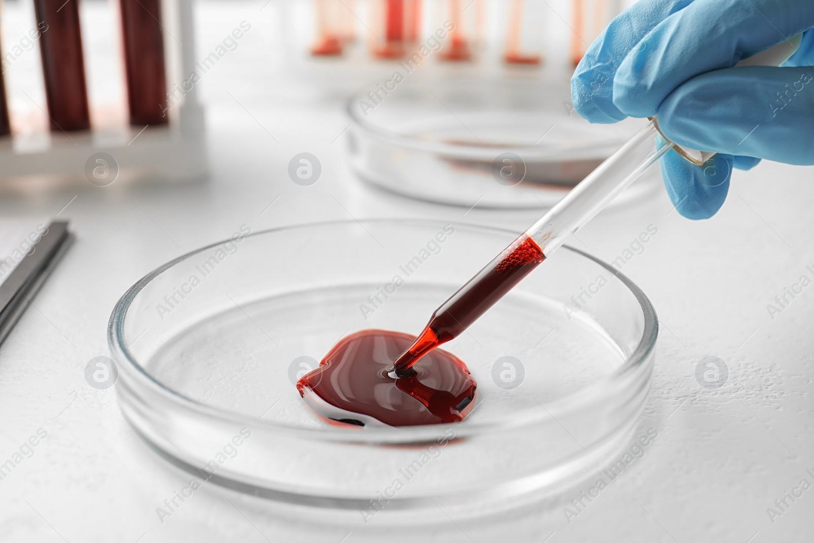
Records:
[[[277,228],[270,228],[266,230],[258,230],[256,232],[252,232],[251,234],[245,235],[244,239],[252,238],[252,237],[260,237],[262,235],[267,234],[276,234],[276,233],[283,233],[289,230],[298,230],[303,228],[324,228],[325,226],[330,225],[359,225],[364,228],[364,224],[373,224],[373,223],[386,223],[398,226],[409,226],[411,224],[416,226],[428,226],[437,224],[439,222],[443,222],[440,220],[432,220],[432,219],[415,219],[415,218],[405,218],[405,219],[363,219],[361,221],[354,221],[354,220],[337,220],[337,221],[316,221],[316,222],[308,222],[308,223],[301,223],[297,225],[288,225],[288,226],[280,226]],[[511,236],[516,236],[519,234],[516,230],[510,230],[506,228],[499,228],[495,226],[483,226],[483,225],[476,225],[473,223],[468,222],[456,222],[456,227],[463,227],[469,228],[472,230],[484,230],[491,232],[492,234],[498,233],[505,233],[510,234]],[[655,347],[656,338],[658,336],[659,331],[659,322],[658,318],[655,313],[655,309],[653,304],[650,302],[650,299],[645,295],[644,291],[641,288],[637,287],[636,283],[632,282],[627,276],[619,272],[619,270],[613,268],[613,266],[607,264],[599,260],[597,257],[590,255],[587,252],[581,251],[575,247],[571,247],[569,245],[563,245],[561,250],[566,250],[573,252],[579,256],[587,258],[589,261],[592,261],[594,264],[601,266],[602,268],[609,271],[613,274],[616,278],[618,278],[625,287],[632,293],[632,295],[636,298],[637,302],[639,303],[642,311],[642,316],[644,317],[644,326],[641,332],[641,338],[639,339],[636,348],[624,359],[624,363],[621,364],[619,367],[615,368],[614,370],[610,371],[609,374],[606,374],[601,379],[597,379],[596,382],[589,384],[587,387],[580,388],[575,392],[570,392],[565,396],[560,396],[554,401],[547,401],[545,404],[540,404],[545,407],[542,412],[536,411],[534,414],[518,414],[519,416],[512,418],[510,422],[505,420],[495,421],[495,422],[471,422],[469,418],[464,419],[461,423],[452,423],[452,424],[433,424],[429,426],[414,426],[414,427],[365,427],[364,430],[361,427],[356,427],[352,425],[348,425],[348,427],[335,427],[335,426],[325,426],[319,428],[306,428],[300,427],[295,424],[288,424],[288,423],[275,423],[270,421],[264,421],[260,418],[250,418],[245,414],[241,414],[237,411],[231,411],[227,409],[219,409],[213,407],[212,405],[208,405],[204,402],[194,400],[187,396],[184,396],[171,388],[168,388],[161,383],[159,380],[155,379],[147,370],[138,362],[137,358],[134,357],[131,349],[127,346],[125,342],[125,318],[127,316],[130,304],[133,300],[136,299],[138,294],[142,291],[144,287],[147,287],[150,282],[152,282],[155,278],[159,277],[160,274],[164,273],[167,269],[172,268],[174,265],[181,263],[182,261],[186,261],[192,256],[198,255],[199,253],[208,251],[212,248],[219,247],[223,243],[227,243],[229,239],[222,239],[217,241],[216,243],[208,244],[204,247],[199,247],[190,252],[186,252],[181,256],[177,256],[172,261],[168,261],[164,263],[164,265],[160,265],[158,268],[153,269],[150,273],[144,275],[142,278],[138,279],[137,282],[133,283],[131,287],[125,291],[125,293],[120,297],[120,299],[116,302],[114,306],[111,316],[107,322],[107,343],[111,349],[111,353],[113,355],[114,361],[116,364],[121,366],[124,364],[125,366],[129,366],[125,368],[125,371],[120,371],[119,377],[122,378],[125,376],[125,379],[128,378],[129,375],[136,376],[136,379],[139,380],[140,383],[147,385],[148,387],[152,388],[154,391],[159,392],[165,399],[172,401],[177,405],[182,405],[186,409],[190,409],[195,411],[197,414],[206,415],[208,417],[214,417],[221,419],[223,421],[229,423],[238,423],[238,424],[248,424],[251,423],[252,425],[260,425],[262,427],[267,428],[274,428],[278,431],[285,431],[298,434],[300,436],[315,436],[318,435],[322,439],[333,439],[333,440],[341,440],[341,441],[370,441],[370,435],[375,434],[376,436],[381,436],[385,440],[389,441],[387,438],[398,438],[405,437],[405,434],[426,434],[428,437],[435,436],[441,429],[446,427],[455,427],[456,428],[456,435],[460,437],[469,436],[469,435],[477,435],[482,431],[487,431],[490,429],[501,429],[506,430],[514,427],[522,427],[530,423],[534,423],[542,418],[549,417],[549,411],[558,411],[560,409],[567,408],[571,405],[578,404],[584,399],[590,398],[594,395],[595,391],[601,391],[603,388],[609,386],[610,383],[615,383],[625,379],[628,374],[632,371],[637,370],[643,363],[648,360],[650,354],[653,352]],[[134,371],[130,371],[134,370]],[[120,383],[116,383],[116,388],[120,387]],[[478,405],[475,405],[475,409],[477,409]],[[474,409],[473,409],[474,410]],[[423,429],[423,431],[422,431]],[[357,439],[354,439],[354,436]]]

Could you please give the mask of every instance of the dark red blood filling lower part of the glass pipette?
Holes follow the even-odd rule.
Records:
[[[435,309],[415,343],[393,364],[396,374],[404,375],[432,349],[456,338],[544,260],[542,249],[533,239],[527,235],[515,239]]]

